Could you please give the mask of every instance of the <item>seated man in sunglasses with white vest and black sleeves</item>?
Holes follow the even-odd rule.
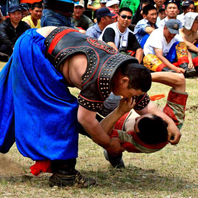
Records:
[[[135,56],[139,63],[142,62],[143,50],[135,35],[129,30],[132,20],[130,8],[121,8],[116,23],[108,25],[102,32],[99,40],[103,40],[115,50]]]

